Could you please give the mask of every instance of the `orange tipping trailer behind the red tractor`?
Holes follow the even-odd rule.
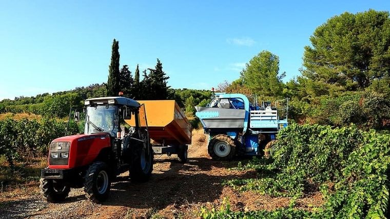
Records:
[[[147,127],[154,154],[178,154],[187,160],[187,144],[191,144],[191,124],[174,100],[137,100],[140,107],[140,125]],[[135,118],[125,120],[135,125]],[[180,157],[185,157],[181,159]]]

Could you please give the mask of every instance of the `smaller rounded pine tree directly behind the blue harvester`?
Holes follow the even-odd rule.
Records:
[[[262,51],[250,59],[242,70],[241,78],[249,89],[260,96],[279,97],[282,95],[284,84],[279,75],[279,57],[269,51]]]

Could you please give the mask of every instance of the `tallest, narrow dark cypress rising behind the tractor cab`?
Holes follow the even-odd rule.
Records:
[[[119,56],[119,41],[114,39],[112,42],[111,63],[108,67],[107,96],[118,96],[120,92]]]

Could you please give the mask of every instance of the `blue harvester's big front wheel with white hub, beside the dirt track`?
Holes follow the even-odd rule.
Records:
[[[214,136],[208,144],[208,154],[217,161],[229,161],[235,152],[235,141],[227,135]]]

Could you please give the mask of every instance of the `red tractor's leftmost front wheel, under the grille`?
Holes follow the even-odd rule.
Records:
[[[64,201],[70,192],[70,186],[51,179],[40,179],[40,189],[45,199],[52,203]]]

